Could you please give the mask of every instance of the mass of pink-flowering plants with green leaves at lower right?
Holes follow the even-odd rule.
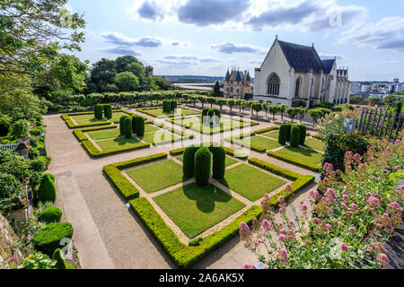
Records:
[[[401,224],[404,187],[403,145],[370,140],[361,156],[347,152],[345,172],[326,163],[319,193],[299,208],[268,196],[252,227],[242,223],[241,239],[268,268],[382,268],[389,265],[384,244]],[[312,212],[311,212],[312,211]],[[251,265],[245,265],[250,268]]]

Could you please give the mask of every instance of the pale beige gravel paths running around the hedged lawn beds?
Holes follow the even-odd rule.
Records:
[[[52,158],[47,172],[57,178],[57,206],[64,210],[64,219],[75,228],[73,239],[82,267],[175,268],[171,259],[165,255],[150,232],[145,230],[136,215],[130,212],[102,173],[102,167],[107,164],[168,152],[173,148],[152,147],[94,160],[84,151],[60,115],[45,116],[44,123],[47,126],[46,147]],[[270,125],[260,123],[252,130]],[[176,128],[180,129],[179,126]],[[284,161],[269,159],[265,154],[251,152],[250,156],[270,160],[303,174],[313,174]],[[296,200],[302,200],[300,196],[296,196]],[[195,268],[234,269],[242,268],[245,262],[255,261],[250,251],[243,248],[239,239],[235,238],[201,260]]]

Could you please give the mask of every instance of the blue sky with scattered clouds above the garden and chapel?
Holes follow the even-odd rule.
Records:
[[[82,60],[123,55],[154,74],[259,67],[278,39],[337,57],[351,81],[404,81],[404,1],[70,0],[87,22]]]

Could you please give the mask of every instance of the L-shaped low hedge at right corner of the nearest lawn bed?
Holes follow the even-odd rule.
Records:
[[[275,207],[277,207],[277,204],[278,204],[277,198],[279,196],[284,196],[285,199],[287,199],[290,196],[293,196],[298,191],[302,190],[304,187],[307,187],[308,185],[310,185],[312,182],[314,182],[314,179],[315,179],[313,176],[306,176],[306,175],[302,175],[300,173],[294,172],[292,170],[286,170],[286,169],[280,168],[276,165],[273,165],[267,161],[261,161],[256,158],[250,159],[249,162],[250,162],[250,164],[257,166],[260,169],[268,170],[268,171],[275,173],[277,175],[280,175],[284,178],[289,178],[291,180],[294,180],[294,182],[291,184],[291,186],[292,186],[291,191],[290,190],[288,191],[284,188],[281,191],[277,192],[277,194],[269,197],[269,203]]]

